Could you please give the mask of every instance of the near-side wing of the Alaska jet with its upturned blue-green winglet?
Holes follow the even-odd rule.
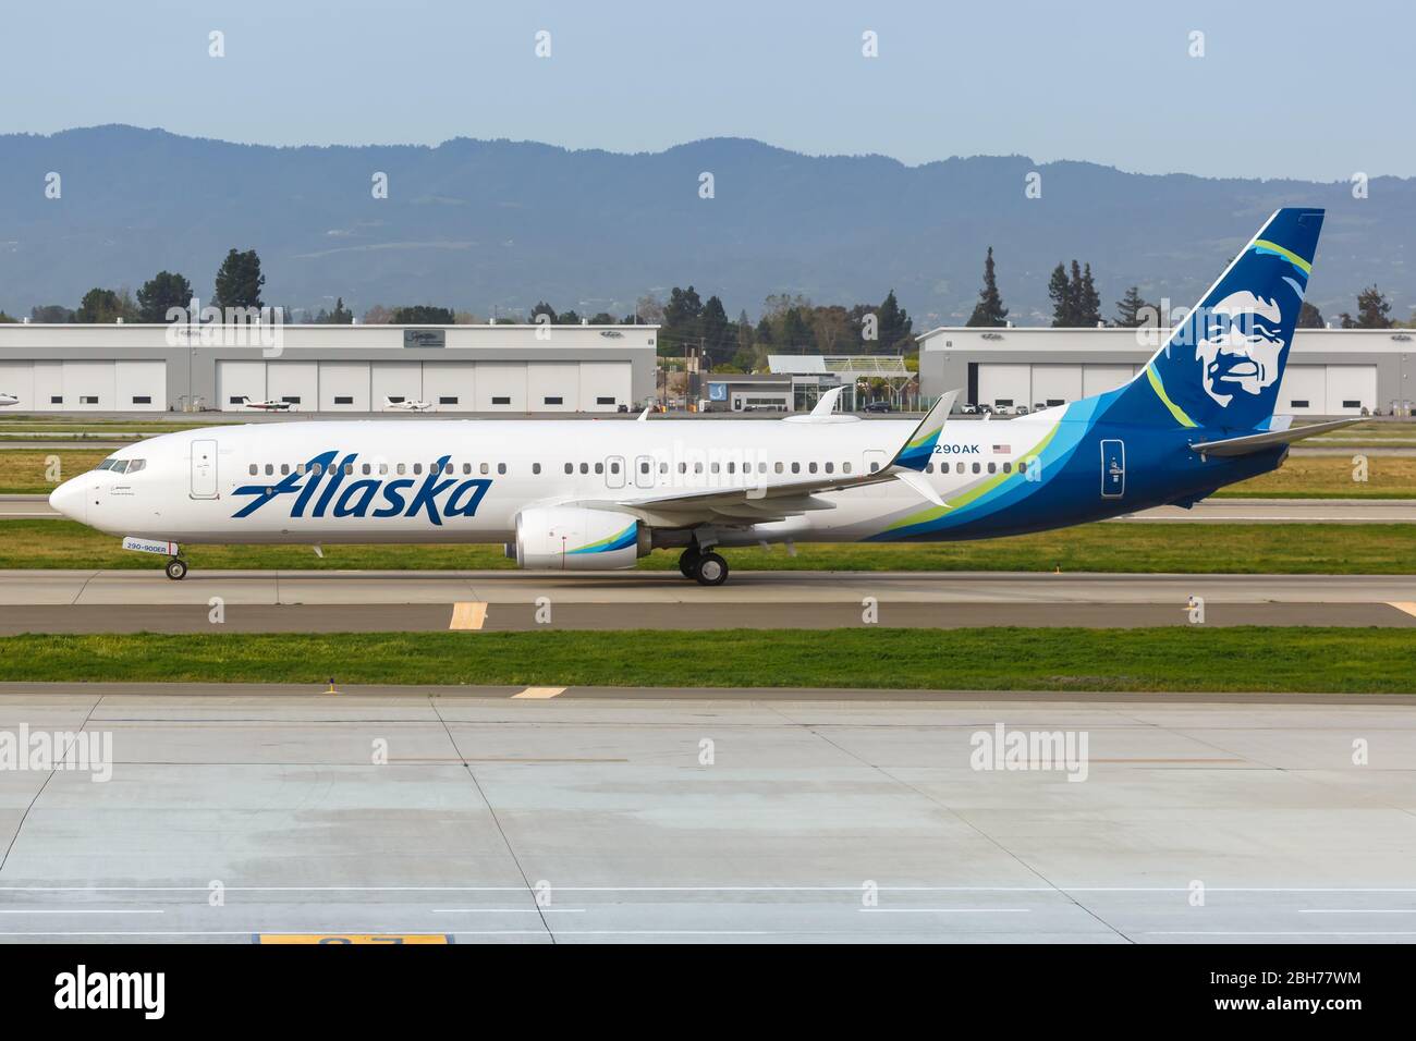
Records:
[[[711,490],[692,490],[649,499],[593,500],[576,506],[616,510],[637,516],[651,527],[691,527],[694,524],[762,524],[784,520],[810,510],[831,510],[834,504],[817,499],[823,491],[882,484],[906,480],[926,497],[935,499],[933,489],[916,479],[935,452],[935,443],[944,429],[944,419],[954,405],[959,391],[944,394],[929,414],[919,421],[915,432],[895,452],[895,457],[875,473],[813,474],[809,480],[753,483]],[[926,490],[927,489],[927,490]]]

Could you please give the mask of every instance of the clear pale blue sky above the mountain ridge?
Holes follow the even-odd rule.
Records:
[[[0,133],[132,123],[612,152],[733,136],[909,164],[1416,176],[1416,6],[1391,0],[45,0],[7,4],[4,21]]]

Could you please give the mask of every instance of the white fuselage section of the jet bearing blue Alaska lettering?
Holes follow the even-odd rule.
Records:
[[[949,497],[1004,466],[1012,470],[1056,422],[1041,412],[949,423],[923,476]],[[510,542],[517,516],[532,507],[828,483],[881,470],[915,425],[834,416],[218,426],[125,448],[112,457],[125,472],[85,473],[51,501],[102,531],[174,542]],[[312,463],[321,457],[316,473]],[[126,472],[139,459],[142,469]],[[882,517],[927,506],[898,480],[818,497],[831,508],[724,525],[718,540],[851,541],[878,533]]]

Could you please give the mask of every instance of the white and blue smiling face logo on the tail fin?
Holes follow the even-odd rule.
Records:
[[[1259,395],[1279,381],[1283,310],[1247,290],[1231,293],[1197,314],[1195,360],[1205,394],[1228,408],[1235,394]]]

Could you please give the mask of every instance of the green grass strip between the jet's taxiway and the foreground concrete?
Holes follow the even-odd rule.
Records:
[[[653,647],[653,653],[646,653]],[[0,637],[0,680],[1409,693],[1403,629]]]

